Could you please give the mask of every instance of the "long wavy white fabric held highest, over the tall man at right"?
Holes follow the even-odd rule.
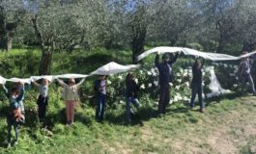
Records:
[[[139,55],[137,57],[137,60],[141,61],[142,59],[146,58],[147,56],[149,56],[150,54],[153,54],[153,53],[162,54],[162,53],[166,53],[166,52],[168,52],[168,53],[183,52],[185,55],[199,56],[199,57],[202,57],[206,60],[211,60],[211,61],[237,61],[237,60],[240,60],[244,57],[249,57],[251,55],[256,54],[256,51],[254,51],[254,52],[236,57],[236,56],[231,56],[231,55],[227,55],[227,54],[216,54],[216,53],[209,53],[209,52],[201,52],[201,51],[198,51],[198,50],[184,48],[184,47],[160,46],[160,47],[156,47],[156,48],[153,48],[151,50],[148,50],[148,51],[142,53],[141,55]]]

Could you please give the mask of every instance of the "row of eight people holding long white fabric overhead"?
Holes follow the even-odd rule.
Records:
[[[155,64],[158,69],[158,85],[159,85],[159,102],[157,115],[161,116],[166,114],[166,108],[170,102],[170,80],[171,80],[171,66],[179,58],[180,53],[176,54],[163,54],[162,62],[160,62],[159,54],[156,54]],[[197,58],[195,63],[192,66],[192,81],[191,81],[191,100],[190,100],[190,109],[194,108],[194,100],[198,94],[200,112],[204,113],[204,102],[202,97],[202,68],[204,65],[204,60]],[[240,64],[239,73],[238,73],[242,82],[250,82],[252,90],[255,93],[254,83],[250,75],[250,64],[247,58],[242,60]],[[75,80],[71,78],[66,84],[64,81],[56,78],[57,82],[64,88],[63,98],[66,101],[66,116],[67,116],[67,126],[73,124],[74,121],[74,108],[76,101],[79,99],[78,89],[82,85],[85,79],[80,80],[77,84]],[[36,81],[32,83],[39,90],[39,97],[37,100],[38,104],[38,116],[40,122],[44,122],[46,116],[46,109],[48,105],[48,89],[51,84],[47,79],[42,80],[42,83],[39,84]],[[25,122],[25,110],[23,105],[23,100],[25,96],[25,91],[28,89],[24,86],[24,83],[18,83],[16,86],[9,92],[3,85],[4,91],[7,97],[10,99],[9,112],[7,116],[8,123],[8,146],[11,146],[11,130],[14,126],[15,139],[14,144],[16,144],[18,139],[18,125]],[[106,103],[106,76],[99,75],[98,79],[94,83],[95,98],[97,102],[96,109],[96,119],[101,122],[104,117],[105,103]],[[131,105],[134,105],[136,109],[139,109],[140,103],[138,99],[139,85],[135,82],[135,74],[129,72],[126,77],[126,116],[127,123],[131,122],[131,116],[134,115]]]

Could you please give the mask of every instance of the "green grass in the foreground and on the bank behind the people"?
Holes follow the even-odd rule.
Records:
[[[17,49],[0,54],[3,76],[27,77],[37,73],[38,49]],[[90,73],[102,64],[115,61],[130,64],[129,51],[75,51],[55,53],[52,74]],[[145,63],[153,61],[149,57]],[[23,61],[23,62],[22,62]],[[184,61],[184,60],[181,60]],[[30,69],[27,68],[30,66]],[[85,93],[90,82],[84,84]],[[87,91],[88,90],[88,91]],[[256,134],[255,97],[237,93],[206,100],[206,113],[188,110],[187,103],[168,107],[165,116],[156,117],[156,100],[142,98],[141,120],[125,125],[125,105],[107,107],[102,124],[95,120],[95,103],[82,99],[75,111],[75,123],[65,125],[65,104],[58,85],[49,91],[47,128],[37,118],[37,91],[27,92],[26,124],[20,128],[18,145],[7,149],[6,117],[8,100],[0,95],[0,153],[252,153]],[[223,152],[224,151],[224,152]]]

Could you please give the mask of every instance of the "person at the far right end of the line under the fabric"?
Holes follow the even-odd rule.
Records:
[[[243,51],[242,54],[247,54],[248,52]],[[242,59],[241,64],[239,65],[239,70],[238,70],[238,77],[242,85],[242,90],[244,89],[244,86],[246,85],[246,82],[249,82],[251,90],[254,94],[256,94],[255,87],[254,87],[254,82],[251,77],[250,71],[251,71],[251,61],[249,60],[248,57],[245,57]]]

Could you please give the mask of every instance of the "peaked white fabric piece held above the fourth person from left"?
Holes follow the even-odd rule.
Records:
[[[111,62],[109,64],[100,66],[100,68],[92,72],[90,75],[110,75],[110,74],[126,72],[132,68],[138,68],[138,67],[139,67],[139,64],[122,65],[122,64]]]

